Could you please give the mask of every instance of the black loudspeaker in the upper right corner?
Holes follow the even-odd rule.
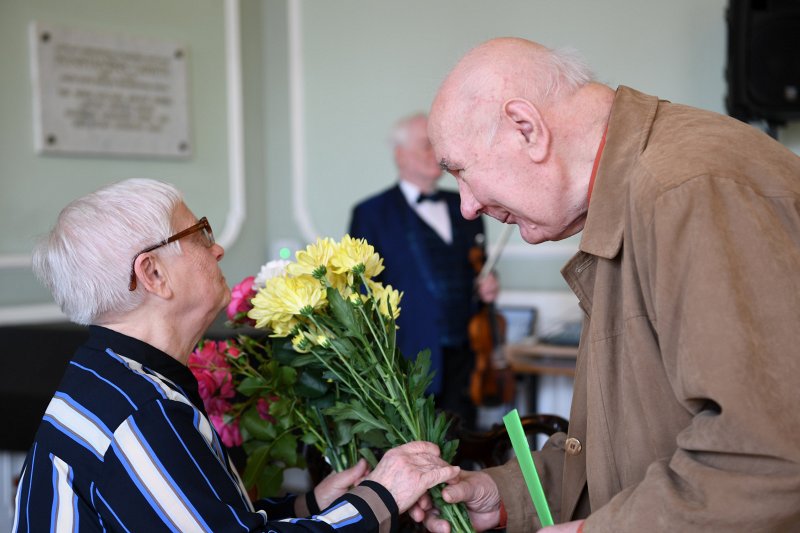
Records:
[[[730,0],[727,23],[728,114],[800,119],[800,0]]]

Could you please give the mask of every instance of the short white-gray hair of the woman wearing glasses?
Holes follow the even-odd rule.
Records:
[[[144,293],[128,290],[134,255],[173,233],[183,201],[172,185],[129,179],[75,200],[33,251],[33,272],[67,317],[94,324],[138,307]],[[178,253],[178,243],[165,247]]]

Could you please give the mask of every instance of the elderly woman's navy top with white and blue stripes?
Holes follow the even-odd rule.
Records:
[[[202,405],[187,367],[142,341],[90,327],[25,460],[13,531],[396,527],[394,499],[374,482],[309,518],[276,516],[291,508],[286,502],[252,504]]]

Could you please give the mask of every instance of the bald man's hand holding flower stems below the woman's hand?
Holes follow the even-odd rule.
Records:
[[[500,492],[488,474],[462,470],[459,476],[448,481],[449,486],[442,490],[442,498],[448,503],[464,502],[469,519],[476,531],[492,529],[500,522]],[[409,511],[416,522],[425,523],[428,531],[450,533],[450,524],[439,518],[430,496],[424,495]]]

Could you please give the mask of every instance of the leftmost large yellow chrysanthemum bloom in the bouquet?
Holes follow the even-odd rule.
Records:
[[[306,309],[319,309],[327,303],[325,290],[311,276],[277,276],[267,281],[252,300],[247,316],[257,328],[271,328],[273,336],[288,335]],[[283,335],[278,335],[278,332]]]

